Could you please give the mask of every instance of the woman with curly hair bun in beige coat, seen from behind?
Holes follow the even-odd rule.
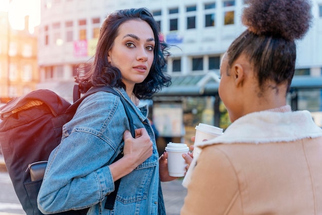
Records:
[[[309,1],[247,1],[220,68],[232,123],[192,160],[182,214],[322,214],[322,130],[286,100],[311,19]]]

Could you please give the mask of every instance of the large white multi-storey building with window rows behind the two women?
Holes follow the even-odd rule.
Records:
[[[173,85],[182,85],[186,91],[185,83],[202,85],[216,81],[223,53],[245,30],[241,23],[244,6],[243,0],[42,0],[38,44],[41,82],[38,88],[52,89],[71,100],[77,68],[91,61],[106,15],[133,7],[150,9],[165,41],[173,45],[167,66]],[[312,13],[313,25],[306,37],[297,43],[297,75],[321,76],[322,73],[322,0],[313,1]],[[176,136],[189,133],[188,130],[193,133],[193,125],[198,122],[213,124],[209,116],[214,114],[214,97],[172,99],[173,102],[179,100],[181,108],[169,101],[168,106],[156,102],[156,111],[162,115],[162,110],[180,112],[181,109],[184,125],[172,129]],[[158,128],[163,129],[162,126]],[[167,135],[171,136],[164,134]]]

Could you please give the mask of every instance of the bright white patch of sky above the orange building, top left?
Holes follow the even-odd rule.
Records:
[[[0,11],[9,11],[11,27],[17,30],[25,28],[25,16],[29,15],[29,32],[40,24],[40,0],[0,0]]]

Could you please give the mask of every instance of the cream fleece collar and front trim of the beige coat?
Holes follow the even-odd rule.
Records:
[[[269,142],[295,141],[322,136],[322,129],[313,121],[308,111],[271,112],[262,111],[247,114],[226,129],[223,135],[203,141],[201,148],[214,144],[266,144]],[[196,164],[193,159],[184,178],[187,187]]]

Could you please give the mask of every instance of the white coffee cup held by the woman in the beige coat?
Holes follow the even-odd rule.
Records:
[[[198,146],[202,144],[202,141],[204,141],[205,139],[209,140],[218,137],[222,134],[223,129],[221,128],[210,126],[209,124],[199,123],[199,125],[195,127],[193,157],[199,156],[201,149]]]

